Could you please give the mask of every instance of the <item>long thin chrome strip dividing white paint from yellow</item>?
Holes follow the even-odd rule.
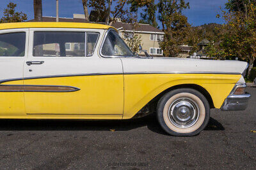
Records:
[[[31,80],[38,78],[58,78],[58,77],[70,77],[70,76],[104,76],[104,75],[120,75],[120,74],[240,74],[240,73],[230,73],[230,72],[126,72],[126,73],[84,73],[84,74],[59,74],[51,76],[33,76],[25,78],[10,78],[5,80],[0,80],[1,83],[8,81],[18,81],[18,80]]]

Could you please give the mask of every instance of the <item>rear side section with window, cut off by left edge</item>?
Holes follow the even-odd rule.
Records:
[[[24,116],[23,66],[28,29],[0,30],[0,117]]]

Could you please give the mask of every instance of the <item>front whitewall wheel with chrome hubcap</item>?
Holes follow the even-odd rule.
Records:
[[[172,90],[159,100],[157,118],[168,134],[195,136],[208,124],[210,106],[204,95],[194,89]]]

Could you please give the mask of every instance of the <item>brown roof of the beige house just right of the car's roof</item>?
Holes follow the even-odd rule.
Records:
[[[129,23],[124,23],[124,22],[115,22],[111,26],[115,27],[116,29],[124,30],[124,31],[135,31],[135,32],[147,32],[147,33],[158,33],[158,34],[164,34],[163,31],[160,29],[157,29],[156,27],[153,27],[152,25],[149,24],[138,24],[136,28],[129,24]]]

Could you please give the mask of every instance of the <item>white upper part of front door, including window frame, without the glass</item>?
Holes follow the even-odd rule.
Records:
[[[24,78],[35,76],[56,76],[63,74],[123,73],[120,59],[99,58],[97,49],[104,35],[102,29],[29,29],[29,52],[26,61],[44,61],[44,64],[24,64]],[[96,50],[91,57],[33,57],[34,31],[87,31],[99,32]],[[32,71],[29,71],[31,69]]]

